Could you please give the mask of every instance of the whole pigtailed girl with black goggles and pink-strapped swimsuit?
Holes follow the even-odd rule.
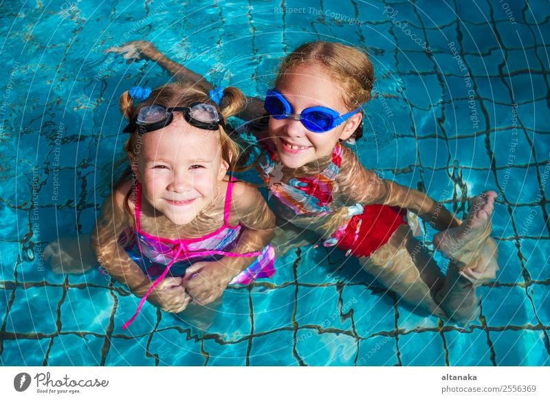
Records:
[[[243,100],[235,88],[181,83],[120,97],[129,167],[92,244],[102,267],[142,297],[124,328],[145,300],[178,313],[216,300],[230,283],[274,274],[274,215],[256,188],[232,177],[239,146],[226,121]]]

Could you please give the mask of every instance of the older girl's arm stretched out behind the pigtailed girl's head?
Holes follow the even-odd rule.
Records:
[[[213,86],[204,76],[197,74],[190,69],[187,69],[183,65],[176,63],[170,58],[166,57],[164,54],[158,51],[158,49],[153,45],[153,43],[148,41],[130,41],[122,44],[120,47],[110,47],[107,50],[104,50],[106,53],[117,53],[122,54],[122,56],[129,60],[151,60],[155,61],[162,69],[164,69],[168,74],[173,76],[175,80],[180,82],[190,82],[198,83],[199,85],[206,88],[206,90],[213,89]],[[222,100],[223,104],[223,100]],[[265,111],[263,109],[263,101],[259,98],[247,97],[246,104],[243,110],[236,115],[244,121],[250,121],[254,126],[263,127],[263,124],[260,124],[259,121],[263,120]]]

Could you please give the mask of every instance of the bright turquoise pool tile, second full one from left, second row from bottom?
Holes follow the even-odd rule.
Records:
[[[104,334],[113,305],[113,296],[105,289],[69,289],[61,304],[61,329]]]

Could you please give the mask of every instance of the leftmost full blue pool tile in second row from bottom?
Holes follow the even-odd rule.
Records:
[[[20,333],[56,332],[56,309],[61,292],[59,287],[18,287],[5,330]]]

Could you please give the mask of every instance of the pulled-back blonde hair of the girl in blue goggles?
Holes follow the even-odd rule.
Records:
[[[279,69],[275,81],[278,87],[292,69],[302,65],[320,65],[342,89],[346,107],[355,110],[371,100],[374,85],[374,69],[366,52],[356,47],[325,41],[305,43],[289,54]],[[351,137],[358,140],[363,135],[363,123]]]

